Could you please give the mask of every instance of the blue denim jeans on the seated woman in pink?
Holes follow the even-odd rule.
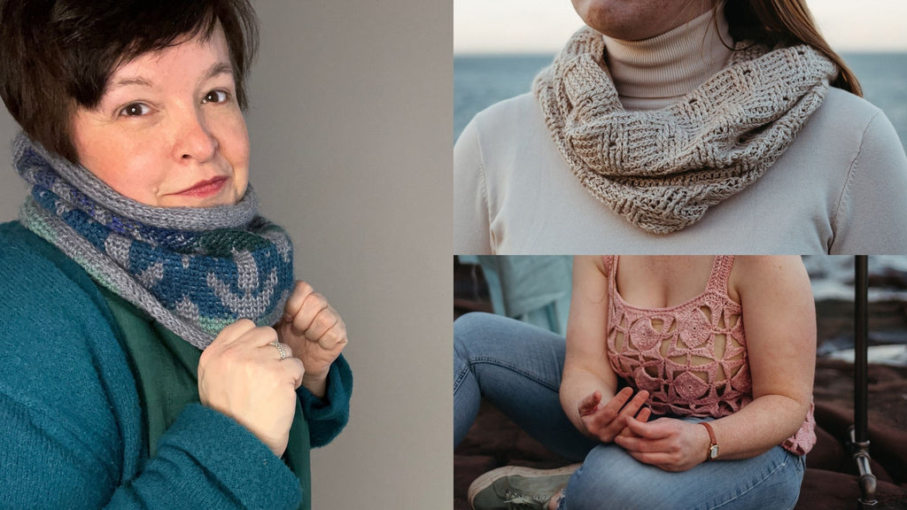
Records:
[[[748,459],[707,462],[682,473],[668,473],[640,463],[619,446],[580,434],[561,409],[558,395],[565,351],[563,337],[517,320],[483,313],[457,319],[453,323],[454,446],[472,426],[485,397],[542,445],[583,461],[565,489],[561,510],[794,507],[805,456],[795,456],[781,446]]]

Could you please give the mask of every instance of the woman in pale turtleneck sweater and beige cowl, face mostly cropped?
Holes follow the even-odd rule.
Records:
[[[803,0],[573,5],[454,147],[455,253],[907,249],[902,144]]]

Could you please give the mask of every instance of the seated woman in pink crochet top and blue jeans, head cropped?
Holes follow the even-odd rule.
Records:
[[[495,470],[473,507],[792,508],[815,443],[803,263],[578,257],[573,272],[566,344],[496,316],[454,323],[455,444],[481,394],[583,461]]]

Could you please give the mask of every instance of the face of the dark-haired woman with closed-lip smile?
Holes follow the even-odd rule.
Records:
[[[249,133],[219,26],[122,64],[72,127],[79,162],[134,201],[210,207],[246,191]]]

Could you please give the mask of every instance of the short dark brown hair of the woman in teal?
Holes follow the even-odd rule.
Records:
[[[258,46],[249,0],[0,0],[0,96],[34,141],[78,162],[73,113],[97,106],[117,66],[218,24],[245,109]]]

